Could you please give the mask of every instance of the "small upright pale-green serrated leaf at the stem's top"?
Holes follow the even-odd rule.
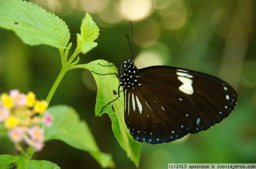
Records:
[[[84,19],[81,24],[81,37],[84,41],[90,42],[94,41],[99,36],[99,28],[96,23],[93,21],[93,18],[88,14],[85,14]]]

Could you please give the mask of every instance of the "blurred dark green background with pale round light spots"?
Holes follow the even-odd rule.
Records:
[[[31,1],[66,22],[73,50],[81,20],[86,11],[91,14],[100,29],[98,47],[80,54],[79,63],[96,59],[120,63],[131,58],[125,39],[125,34],[131,35],[130,20],[138,68],[170,65],[197,70],[224,79],[237,90],[237,107],[220,124],[168,144],[143,143],[139,168],[166,168],[168,163],[256,163],[255,0]],[[0,29],[0,93],[18,88],[45,99],[60,69],[56,48],[25,45],[12,31]],[[100,149],[113,155],[116,168],[135,168],[117,143],[108,115],[95,117],[95,101],[91,73],[77,69],[64,77],[51,105],[74,107],[89,124]],[[0,145],[0,154],[17,155],[8,138],[1,137]],[[47,142],[34,158],[52,161],[62,169],[100,168],[87,152],[61,141]]]

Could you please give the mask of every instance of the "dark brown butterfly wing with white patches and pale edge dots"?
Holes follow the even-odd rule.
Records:
[[[124,89],[125,122],[137,141],[159,144],[207,130],[226,118],[237,101],[227,82],[192,70],[139,69],[141,86]]]

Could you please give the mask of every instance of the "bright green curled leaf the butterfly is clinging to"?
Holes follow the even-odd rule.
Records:
[[[105,60],[96,60],[85,65],[79,65],[79,68],[85,68],[90,71],[93,70],[94,72],[100,74],[117,73],[117,69],[115,66],[104,67],[99,65],[98,63],[102,65],[111,65],[111,63],[108,63]],[[116,99],[116,97],[118,96],[113,95],[113,90],[115,90],[117,93],[119,80],[116,78],[115,75],[102,76],[95,73],[92,74],[96,80],[96,84],[98,87],[95,113],[99,116],[101,116],[103,113],[108,113],[109,117],[111,118],[112,130],[116,137],[116,140],[126,151],[127,156],[131,158],[131,160],[138,167],[140,163],[140,151],[142,145],[141,143],[135,141],[132,138],[129,130],[126,127],[124,119],[124,98],[122,92],[120,92],[119,99],[105,107],[102,114],[99,114],[102,110],[102,107],[104,107],[113,99]],[[115,111],[112,110],[112,106]]]

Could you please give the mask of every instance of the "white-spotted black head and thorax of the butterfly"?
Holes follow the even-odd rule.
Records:
[[[139,70],[136,68],[136,66],[133,63],[133,60],[127,59],[123,66],[125,68],[123,74],[119,77],[120,80],[120,86],[124,88],[135,88],[141,86],[140,81],[138,80],[137,73],[139,73]]]

